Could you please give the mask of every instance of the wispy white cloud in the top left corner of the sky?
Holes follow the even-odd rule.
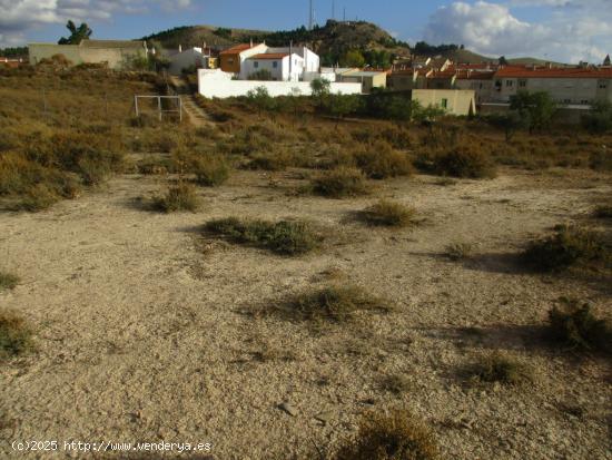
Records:
[[[0,0],[0,47],[23,43],[32,28],[52,23],[109,20],[117,13],[142,13],[150,7],[185,9],[191,0]]]

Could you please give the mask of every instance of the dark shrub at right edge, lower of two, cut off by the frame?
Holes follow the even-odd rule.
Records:
[[[549,324],[553,336],[570,349],[612,351],[610,323],[595,317],[588,303],[561,298],[549,312]]]

